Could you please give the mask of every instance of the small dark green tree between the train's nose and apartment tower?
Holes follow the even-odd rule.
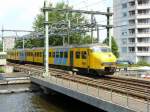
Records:
[[[119,52],[118,52],[118,45],[114,39],[114,37],[111,37],[111,48],[112,48],[112,52],[113,54],[118,58],[119,57]],[[104,44],[109,45],[109,38],[107,37],[104,41]]]

